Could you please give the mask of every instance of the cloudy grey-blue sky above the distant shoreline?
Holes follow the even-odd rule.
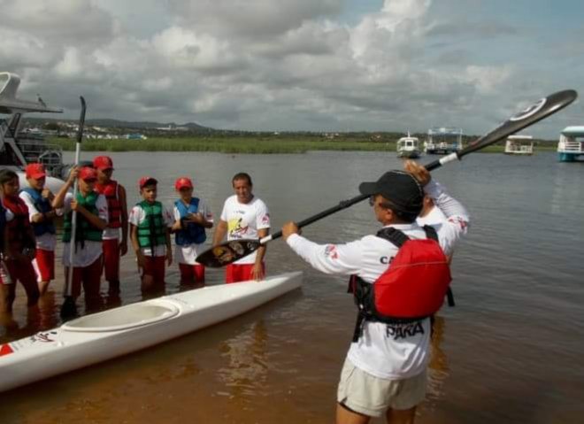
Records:
[[[88,118],[482,134],[584,96],[580,0],[0,0],[0,72]],[[583,102],[529,134],[584,125]]]

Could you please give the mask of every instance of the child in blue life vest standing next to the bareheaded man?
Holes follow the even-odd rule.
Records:
[[[181,198],[174,202],[173,233],[176,236],[174,258],[181,270],[181,283],[204,286],[204,266],[196,262],[207,239],[205,228],[213,227],[211,210],[199,197],[193,197],[193,181],[181,177],[174,183]]]

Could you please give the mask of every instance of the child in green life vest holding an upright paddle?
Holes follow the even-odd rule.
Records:
[[[77,197],[68,192],[78,178]],[[63,265],[65,279],[73,266],[71,295],[76,299],[81,295],[81,284],[88,310],[101,307],[99,293],[102,274],[102,233],[107,226],[107,200],[97,193],[96,170],[89,166],[75,166],[65,184],[53,199],[53,207],[65,209],[63,221]],[[75,245],[71,245],[73,233],[73,211],[77,212]],[[72,258],[73,249],[73,263]]]

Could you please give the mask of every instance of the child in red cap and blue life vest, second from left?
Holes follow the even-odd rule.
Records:
[[[55,197],[44,186],[47,173],[42,164],[28,164],[26,169],[28,187],[20,191],[20,198],[27,204],[30,220],[36,238],[36,255],[33,261],[39,291],[43,295],[51,280],[55,279],[55,247],[57,235],[53,220],[57,211],[52,207]]]

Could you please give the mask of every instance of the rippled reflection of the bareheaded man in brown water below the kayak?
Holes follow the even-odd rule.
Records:
[[[237,335],[219,350],[228,358],[227,367],[219,369],[219,379],[225,383],[230,398],[237,404],[246,405],[250,397],[265,392],[267,376],[267,330],[263,320],[252,324],[250,330]]]

